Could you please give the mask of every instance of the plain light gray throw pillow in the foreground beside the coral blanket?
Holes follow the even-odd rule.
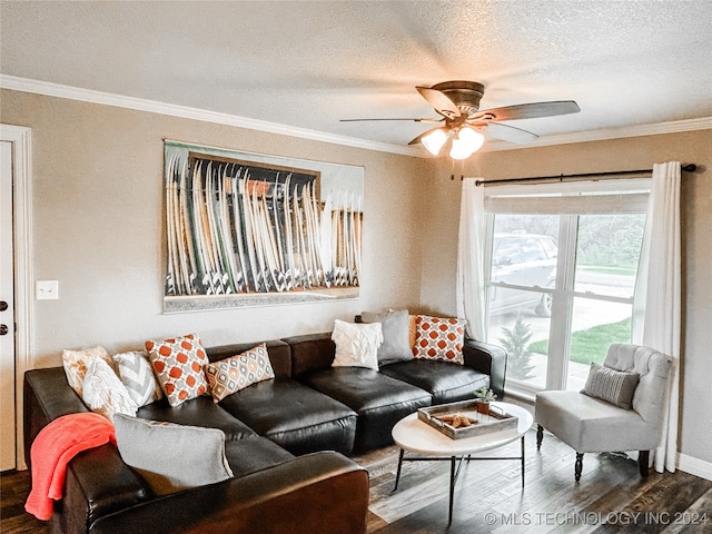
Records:
[[[225,456],[225,433],[118,415],[119,454],[159,495],[233,477]]]

